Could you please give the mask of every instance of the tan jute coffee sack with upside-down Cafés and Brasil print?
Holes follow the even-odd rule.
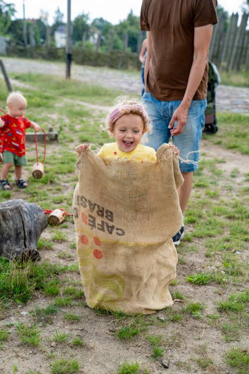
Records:
[[[91,308],[151,314],[173,304],[171,237],[182,225],[183,178],[168,145],[156,156],[156,163],[103,160],[87,149],[76,164],[77,252]]]

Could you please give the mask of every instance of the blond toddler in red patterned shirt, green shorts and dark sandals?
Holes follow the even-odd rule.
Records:
[[[39,131],[40,126],[24,117],[27,101],[18,91],[11,92],[7,97],[7,114],[0,117],[0,188],[10,189],[7,180],[9,169],[14,165],[16,185],[26,188],[27,183],[21,179],[22,166],[27,164],[25,157],[25,130],[29,127]]]

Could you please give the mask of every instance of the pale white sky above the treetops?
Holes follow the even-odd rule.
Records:
[[[23,0],[5,0],[5,2],[13,3],[17,10],[16,17],[22,17]],[[243,0],[218,0],[218,2],[232,14],[232,12],[240,11]],[[117,24],[127,17],[130,9],[133,10],[133,14],[139,15],[141,3],[142,0],[71,0],[71,14],[74,19],[82,12],[89,13],[91,20],[103,17],[109,22]],[[39,18],[40,9],[43,9],[48,11],[49,23],[52,24],[58,6],[64,13],[64,20],[66,20],[67,0],[25,0],[25,15],[26,18]]]

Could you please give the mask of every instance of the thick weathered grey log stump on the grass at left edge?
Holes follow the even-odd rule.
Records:
[[[0,203],[0,256],[39,259],[37,241],[47,217],[36,204],[22,199]]]

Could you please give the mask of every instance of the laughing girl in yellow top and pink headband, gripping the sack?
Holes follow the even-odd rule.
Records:
[[[141,145],[141,138],[151,132],[149,118],[142,107],[135,100],[118,101],[107,116],[106,127],[110,137],[115,137],[116,143],[104,144],[98,155],[103,159],[122,159],[142,161],[156,161],[156,152],[151,147]],[[169,143],[178,156],[177,147]],[[81,144],[75,151],[80,156],[88,147]]]

